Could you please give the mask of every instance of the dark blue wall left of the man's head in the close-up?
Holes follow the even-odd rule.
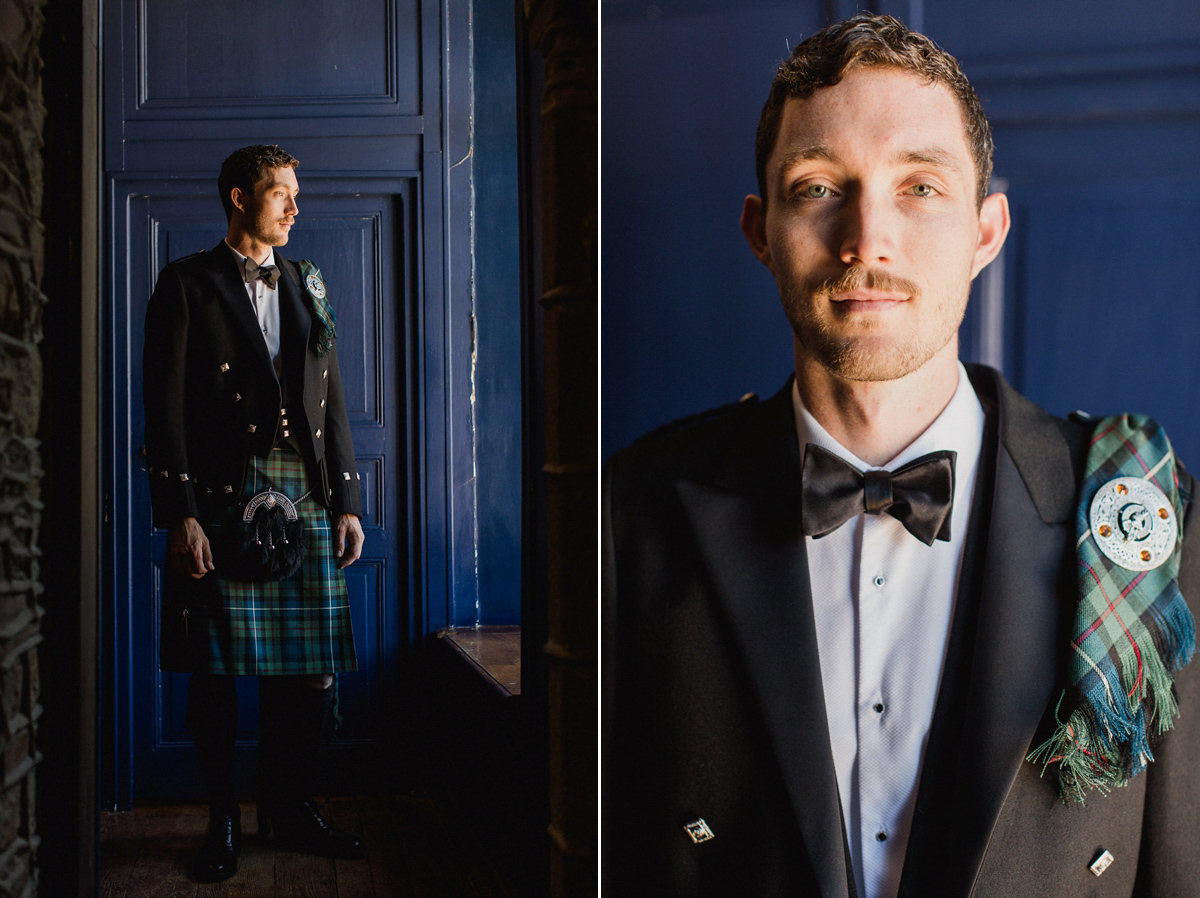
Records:
[[[816,4],[646,10],[602,8],[605,457],[791,370],[775,282],[738,218],[772,73],[788,36],[818,26]]]

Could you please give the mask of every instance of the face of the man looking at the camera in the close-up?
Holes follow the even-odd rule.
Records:
[[[860,68],[787,101],[767,208],[748,197],[742,223],[779,283],[798,360],[890,381],[956,355],[971,280],[1008,229],[1004,198],[980,214],[974,179],[942,84]]]

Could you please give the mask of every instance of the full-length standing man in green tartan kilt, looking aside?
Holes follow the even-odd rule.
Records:
[[[206,882],[236,873],[241,846],[236,676],[259,677],[259,836],[364,855],[310,791],[335,675],[356,667],[342,568],[362,549],[362,504],[324,283],[275,251],[298,214],[296,164],[278,146],[233,152],[217,179],[224,240],[167,265],[146,309],[146,462],[155,525],[168,531],[160,660],[192,675],[187,722],[210,803],[196,876]],[[247,503],[257,531],[244,537]],[[301,523],[284,531],[293,510]],[[287,565],[260,574],[238,556],[253,544],[290,552],[294,568],[302,541],[283,579]]]

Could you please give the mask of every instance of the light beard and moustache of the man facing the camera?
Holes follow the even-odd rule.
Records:
[[[846,381],[895,381],[911,375],[954,339],[966,315],[965,300],[959,309],[952,309],[943,299],[916,331],[890,334],[883,322],[866,318],[856,325],[857,333],[847,335],[844,323],[817,313],[833,301],[832,297],[864,287],[901,293],[910,303],[920,299],[912,281],[857,265],[814,287],[779,283],[784,313],[797,341],[822,367]],[[965,289],[970,292],[970,283]]]

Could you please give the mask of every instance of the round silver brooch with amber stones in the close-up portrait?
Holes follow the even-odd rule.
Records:
[[[1090,509],[1096,544],[1128,570],[1151,570],[1175,549],[1175,509],[1166,495],[1140,477],[1109,480]]]

